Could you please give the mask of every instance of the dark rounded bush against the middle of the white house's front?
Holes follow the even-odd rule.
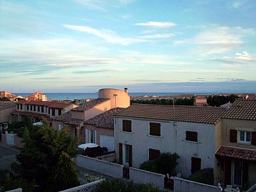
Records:
[[[177,153],[161,153],[157,159],[143,162],[140,169],[174,176],[178,158],[179,155]]]

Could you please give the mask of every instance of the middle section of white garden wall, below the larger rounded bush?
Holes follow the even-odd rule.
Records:
[[[148,172],[141,169],[135,169],[133,167],[129,168],[130,180],[134,181],[136,184],[153,184],[158,186],[160,189],[165,188],[165,175]]]

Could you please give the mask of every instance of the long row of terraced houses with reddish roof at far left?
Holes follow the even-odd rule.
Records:
[[[77,105],[72,103],[53,101],[18,101],[16,110],[11,113],[11,122],[26,121],[39,122],[42,117],[51,120],[52,117],[67,113]]]

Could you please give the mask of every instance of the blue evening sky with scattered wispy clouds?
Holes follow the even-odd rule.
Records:
[[[1,0],[0,89],[256,93],[254,0]]]

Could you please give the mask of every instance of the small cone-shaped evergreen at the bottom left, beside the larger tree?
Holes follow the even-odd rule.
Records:
[[[58,165],[53,170],[48,181],[48,190],[63,191],[66,188],[72,188],[79,185],[75,163],[72,162],[68,153],[62,152],[58,159]]]

